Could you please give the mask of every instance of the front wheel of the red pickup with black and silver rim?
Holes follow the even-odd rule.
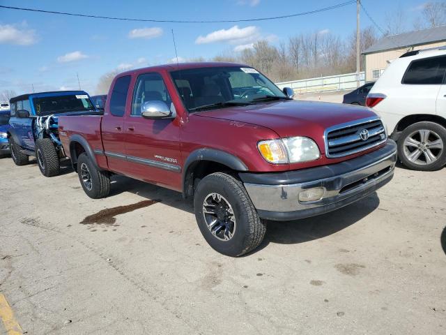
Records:
[[[259,218],[243,184],[229,174],[216,172],[201,179],[194,195],[194,208],[201,234],[223,255],[237,257],[249,253],[263,241],[266,221]]]

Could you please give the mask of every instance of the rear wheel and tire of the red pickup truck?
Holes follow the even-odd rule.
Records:
[[[89,156],[82,153],[77,158],[77,174],[84,192],[92,199],[105,198],[110,193],[108,172],[100,171],[91,163]]]

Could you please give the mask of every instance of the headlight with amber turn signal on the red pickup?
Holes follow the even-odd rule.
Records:
[[[263,158],[269,163],[286,164],[314,161],[321,156],[317,144],[308,137],[288,137],[265,140],[257,144]]]

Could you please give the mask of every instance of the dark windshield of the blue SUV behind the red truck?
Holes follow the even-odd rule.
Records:
[[[37,115],[95,110],[93,103],[86,94],[33,98],[33,105]]]

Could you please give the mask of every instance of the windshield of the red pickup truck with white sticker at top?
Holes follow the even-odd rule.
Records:
[[[192,68],[171,72],[187,110],[286,99],[282,91],[254,68]]]

